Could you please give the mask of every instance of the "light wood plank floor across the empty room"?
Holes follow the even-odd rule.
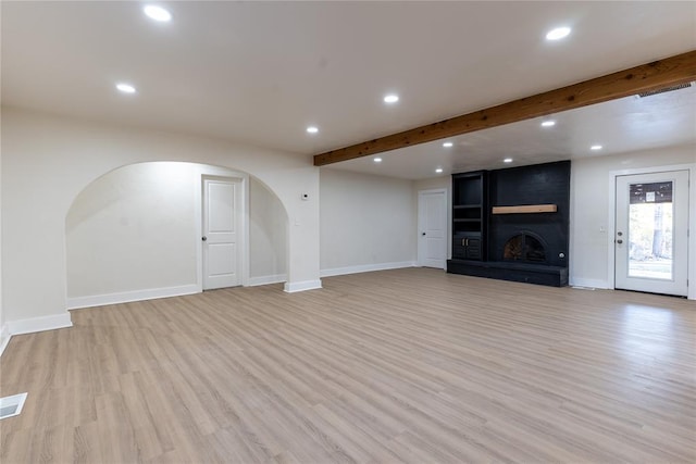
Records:
[[[0,462],[696,462],[696,304],[398,269],[13,337]]]

